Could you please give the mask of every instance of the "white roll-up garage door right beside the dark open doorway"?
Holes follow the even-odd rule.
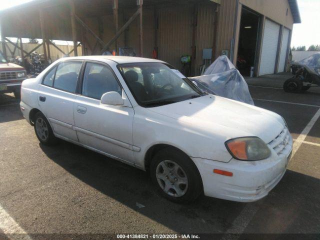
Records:
[[[274,73],[280,25],[265,19],[259,75]]]

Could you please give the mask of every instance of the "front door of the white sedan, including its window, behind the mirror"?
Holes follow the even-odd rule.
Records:
[[[80,143],[111,157],[133,162],[132,121],[134,110],[122,105],[100,103],[103,93],[122,87],[107,65],[86,62],[74,103],[74,123]]]

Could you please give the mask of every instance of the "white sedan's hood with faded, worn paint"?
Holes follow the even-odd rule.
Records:
[[[283,129],[284,122],[275,112],[215,95],[149,108],[177,119],[187,127],[225,134],[226,139],[257,136],[268,143]]]

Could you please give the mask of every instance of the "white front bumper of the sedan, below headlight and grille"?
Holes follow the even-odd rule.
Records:
[[[291,137],[289,144],[281,155],[272,152],[270,157],[259,161],[191,159],[200,172],[206,196],[232,201],[255,201],[266,196],[284,175],[292,151]],[[230,171],[233,175],[213,173],[215,168]]]

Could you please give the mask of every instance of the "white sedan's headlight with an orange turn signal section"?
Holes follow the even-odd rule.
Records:
[[[267,158],[270,149],[259,137],[248,136],[227,140],[225,146],[238,160],[255,161]]]

